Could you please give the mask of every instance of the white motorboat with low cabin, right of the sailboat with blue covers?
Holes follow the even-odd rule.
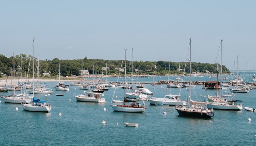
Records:
[[[87,92],[85,95],[75,95],[76,101],[83,102],[106,102],[103,93]]]

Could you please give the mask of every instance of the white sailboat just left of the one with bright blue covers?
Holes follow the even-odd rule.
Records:
[[[12,76],[12,73],[10,74]],[[16,90],[16,87],[14,86],[15,84],[15,66],[14,66],[14,53],[13,53],[13,95],[9,95],[9,96],[3,96],[3,100],[7,103],[22,103],[22,102],[26,102],[26,101],[23,101],[24,100],[24,97],[21,97],[21,96],[16,96],[15,95],[15,90]]]

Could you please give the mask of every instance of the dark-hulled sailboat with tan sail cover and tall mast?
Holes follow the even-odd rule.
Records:
[[[176,105],[176,110],[181,116],[189,116],[189,117],[199,117],[199,118],[211,118],[214,116],[213,109],[209,110],[208,108],[202,107],[205,102],[196,102],[191,100],[191,39],[190,39],[190,96],[189,96],[189,104],[188,106],[180,106]]]

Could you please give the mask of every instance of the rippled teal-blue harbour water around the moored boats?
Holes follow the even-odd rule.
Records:
[[[166,80],[168,76],[156,78]],[[116,81],[116,78],[108,80]],[[139,82],[151,82],[153,78],[139,80]],[[199,77],[194,80],[199,80]],[[79,90],[78,86],[70,86],[70,91],[55,91],[54,84],[55,82],[48,82],[54,91],[47,97],[52,107],[49,113],[27,112],[20,104],[4,103],[2,100],[0,145],[255,145],[256,143],[254,137],[256,113],[244,109],[215,110],[215,117],[207,120],[180,117],[173,106],[152,106],[149,103],[147,103],[147,111],[142,114],[121,113],[114,112],[110,106],[115,88],[109,88],[109,91],[104,92],[106,103],[89,103],[77,102],[73,97],[88,90]],[[153,97],[164,97],[169,93],[169,89],[162,89],[161,86],[166,87],[166,85],[146,84],[146,88],[153,92]],[[202,85],[193,87],[197,95],[197,97],[192,96],[193,100],[204,100],[200,95],[207,95],[208,91],[202,87]],[[116,89],[114,99],[122,100],[123,91]],[[209,92],[213,95],[216,90]],[[179,89],[171,88],[171,93],[179,94]],[[55,96],[55,94],[64,94],[64,96]],[[115,98],[116,95],[118,98]],[[188,95],[189,91],[182,88],[181,99],[185,100]],[[235,94],[234,99],[243,100],[243,107],[255,108],[255,95],[256,90],[253,89],[249,93]],[[36,98],[45,100],[44,95],[36,95]],[[68,101],[69,99],[71,101]],[[19,109],[15,110],[15,107]],[[107,110],[104,111],[103,108]],[[164,111],[167,112],[166,115],[163,114]],[[62,116],[59,116],[60,112]],[[252,121],[248,122],[248,118]],[[101,123],[104,119],[106,124]],[[124,122],[139,123],[139,126],[127,127]]]

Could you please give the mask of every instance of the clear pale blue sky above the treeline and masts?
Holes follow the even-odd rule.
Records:
[[[1,0],[0,54],[40,60],[104,59],[192,62],[256,70],[254,0]],[[234,63],[235,62],[235,63]],[[248,65],[249,64],[249,65]]]

